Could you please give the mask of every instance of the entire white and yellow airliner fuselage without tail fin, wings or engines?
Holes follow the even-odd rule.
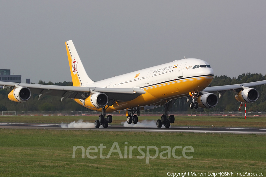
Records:
[[[132,101],[116,101],[106,111],[113,112],[133,107],[142,107],[141,110],[145,110],[148,109],[147,106],[161,106],[171,99],[188,96],[189,92],[202,91],[211,83],[213,76],[213,69],[210,68],[207,62],[188,58],[82,86],[143,89],[146,91],[146,94]],[[76,101],[83,104],[81,101]],[[101,109],[94,110],[101,111]]]

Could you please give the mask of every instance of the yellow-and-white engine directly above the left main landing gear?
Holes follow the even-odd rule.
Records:
[[[108,96],[104,93],[95,93],[85,99],[85,105],[92,108],[103,108],[108,103]]]

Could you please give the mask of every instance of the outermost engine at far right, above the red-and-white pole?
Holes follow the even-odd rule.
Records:
[[[242,103],[253,103],[259,98],[259,92],[256,89],[252,88],[244,89],[241,90],[238,94],[236,94],[235,98],[236,101]]]

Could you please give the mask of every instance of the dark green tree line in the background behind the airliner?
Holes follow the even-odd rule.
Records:
[[[266,80],[266,75],[258,73],[244,73],[240,76],[230,78],[226,75],[214,76],[210,86],[222,86],[247,82],[255,82]],[[59,85],[59,86],[73,86],[72,82],[57,82],[53,83],[49,81],[40,80],[38,84],[45,85]],[[247,110],[249,112],[266,112],[266,85],[252,87],[259,91],[259,99],[251,104],[247,104]],[[16,103],[10,101],[7,97],[9,91],[0,89],[0,111],[86,111],[87,108],[77,104],[73,99],[66,99],[62,102],[61,97],[58,96],[45,96],[41,100],[38,100],[38,94],[32,94],[31,98],[24,103]],[[235,99],[236,93],[234,91],[227,91],[212,109],[198,108],[197,111],[238,111],[240,103]],[[173,104],[172,111],[191,111],[189,104],[186,102],[187,98],[177,99]],[[163,107],[157,108],[156,111],[163,111]]]

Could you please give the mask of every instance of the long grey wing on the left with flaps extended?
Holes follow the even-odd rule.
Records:
[[[61,101],[66,98],[86,99],[91,91],[101,92],[108,96],[108,99],[115,101],[130,101],[146,92],[139,88],[98,88],[98,87],[74,87],[40,85],[30,83],[0,82],[3,89],[12,90],[14,87],[22,86],[30,89],[31,93],[39,94],[39,99],[45,95],[61,96]]]

